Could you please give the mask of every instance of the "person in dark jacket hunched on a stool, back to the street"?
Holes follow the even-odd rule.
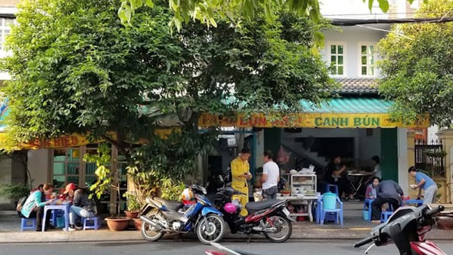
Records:
[[[393,210],[397,210],[401,204],[401,196],[403,189],[394,180],[383,180],[376,187],[376,195],[378,196],[371,203],[371,221],[381,222],[381,212],[384,203],[389,203]]]

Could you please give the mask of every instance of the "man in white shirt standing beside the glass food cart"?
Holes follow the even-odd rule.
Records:
[[[277,183],[280,180],[280,171],[277,163],[272,160],[272,151],[266,150],[263,153],[263,176],[261,176],[261,183],[263,183],[263,199],[276,199],[277,198]]]

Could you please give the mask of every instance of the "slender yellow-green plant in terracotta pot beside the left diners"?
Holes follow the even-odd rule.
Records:
[[[106,167],[106,165],[110,164],[111,156],[110,156],[110,148],[107,144],[103,143],[100,144],[98,147],[98,154],[97,155],[84,155],[84,161],[95,163],[98,169],[95,170],[95,175],[98,176],[98,180],[91,185],[90,190],[93,190],[100,199],[100,196],[109,190],[116,191],[116,196],[118,198],[121,197],[120,194],[120,183],[119,183],[119,173],[116,171],[112,173],[112,171]],[[107,226],[112,231],[123,231],[128,229],[130,218],[128,217],[121,217],[121,207],[120,203],[117,205],[117,212],[118,214],[116,217],[112,215],[111,217],[105,218],[107,222]]]

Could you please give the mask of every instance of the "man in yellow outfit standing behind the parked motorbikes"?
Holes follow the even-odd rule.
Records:
[[[231,187],[234,190],[243,192],[245,195],[236,195],[232,199],[238,199],[243,209],[240,211],[240,215],[247,216],[248,212],[245,210],[245,204],[249,202],[249,187],[247,180],[252,178],[249,167],[250,149],[243,148],[236,159],[231,161]]]

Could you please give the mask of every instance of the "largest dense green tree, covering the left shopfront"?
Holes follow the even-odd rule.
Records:
[[[22,3],[2,63],[13,77],[10,139],[87,134],[116,146],[131,171],[183,180],[217,134],[199,132],[199,113],[298,111],[299,100],[329,95],[332,81],[311,50],[320,25],[294,13],[241,26],[219,19],[215,29],[189,22],[171,33],[164,1],[137,9],[136,26],[121,24],[120,4]],[[164,139],[155,134],[162,116],[178,124]]]

